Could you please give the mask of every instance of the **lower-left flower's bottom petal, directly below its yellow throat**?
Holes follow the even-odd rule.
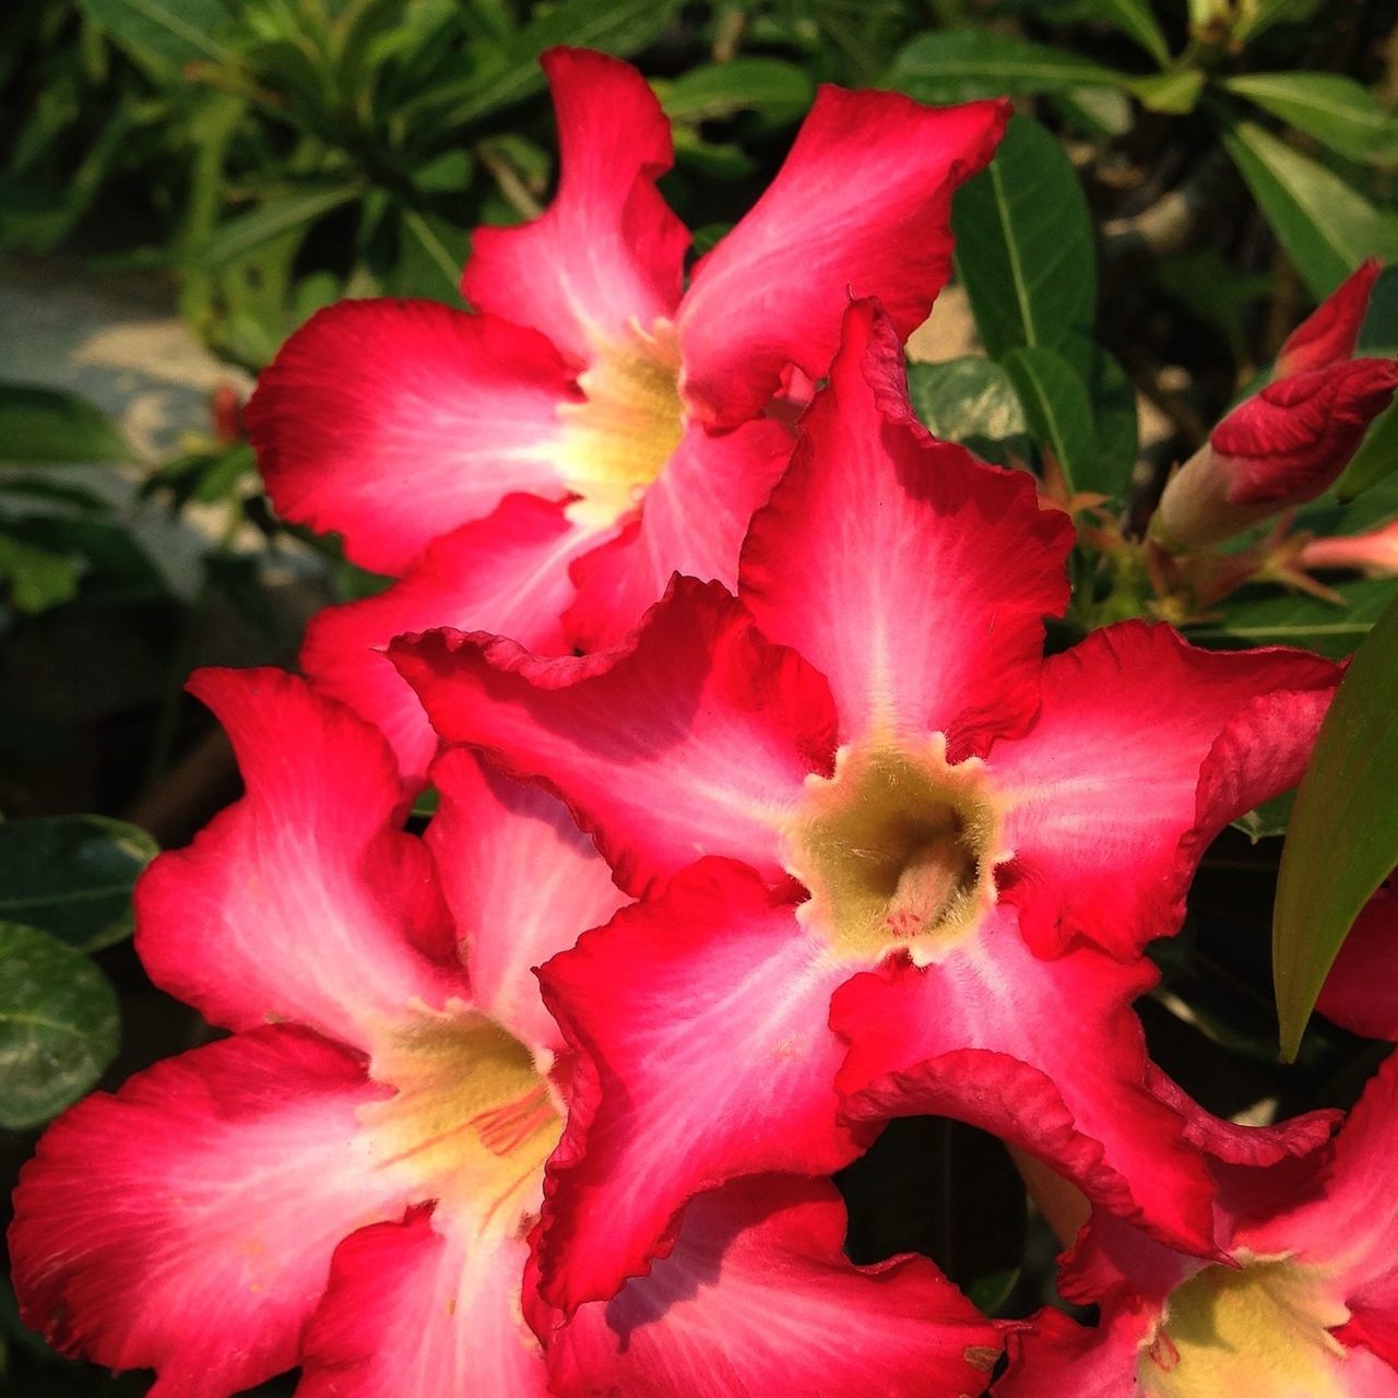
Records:
[[[468,1237],[426,1209],[336,1251],[306,1328],[296,1398],[548,1398],[524,1324],[528,1244]]]

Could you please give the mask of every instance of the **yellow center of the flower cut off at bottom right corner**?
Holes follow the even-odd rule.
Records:
[[[1329,1331],[1346,1320],[1314,1268],[1206,1267],[1170,1293],[1169,1316],[1141,1352],[1141,1388],[1151,1398],[1342,1398],[1345,1348]]]

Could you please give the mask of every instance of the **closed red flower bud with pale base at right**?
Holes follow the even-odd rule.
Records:
[[[1276,376],[1240,403],[1165,488],[1152,521],[1188,551],[1313,500],[1349,464],[1398,389],[1398,359],[1355,359],[1381,267],[1366,261],[1282,345]]]

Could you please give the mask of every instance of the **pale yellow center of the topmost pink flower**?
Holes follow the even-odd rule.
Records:
[[[636,506],[684,435],[679,341],[668,320],[600,343],[565,403],[563,478],[579,496],[569,516],[598,528]]]

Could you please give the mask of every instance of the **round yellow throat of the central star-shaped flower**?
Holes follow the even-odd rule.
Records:
[[[851,956],[935,960],[995,902],[998,833],[983,765],[948,765],[941,734],[844,747],[784,829],[787,870],[811,891],[802,921]]]

